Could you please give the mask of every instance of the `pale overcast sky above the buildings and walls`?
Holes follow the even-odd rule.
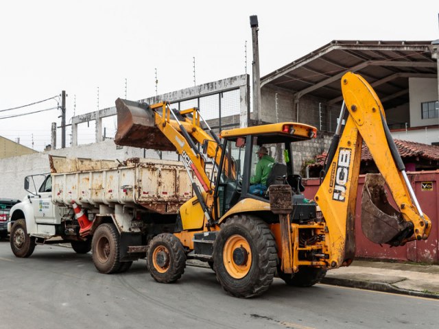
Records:
[[[58,97],[8,109],[62,90],[69,123],[117,97],[156,95],[155,70],[159,95],[193,86],[193,57],[196,84],[244,74],[246,41],[251,73],[250,15],[263,76],[331,40],[439,39],[438,13],[437,0],[1,1],[0,136],[42,151],[61,123]],[[115,129],[112,119],[104,125]],[[82,125],[79,143],[93,138],[94,125]]]

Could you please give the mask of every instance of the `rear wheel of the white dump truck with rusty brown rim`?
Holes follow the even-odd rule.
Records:
[[[104,274],[115,273],[120,265],[120,239],[115,225],[99,225],[93,234],[91,245],[93,264],[97,271]]]

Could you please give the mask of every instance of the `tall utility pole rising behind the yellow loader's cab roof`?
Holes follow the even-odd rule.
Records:
[[[258,16],[250,16],[253,43],[253,116],[257,124],[261,122],[261,77],[259,73],[259,40],[258,40]]]

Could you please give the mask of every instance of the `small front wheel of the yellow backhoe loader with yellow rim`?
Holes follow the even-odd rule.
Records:
[[[185,249],[173,234],[162,233],[154,236],[150,243],[147,260],[151,276],[157,282],[176,282],[185,273]]]

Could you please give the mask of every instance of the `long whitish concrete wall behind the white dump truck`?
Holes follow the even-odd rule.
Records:
[[[135,147],[117,147],[112,140],[108,139],[100,143],[0,159],[0,173],[2,177],[0,197],[23,199],[23,196],[26,195],[26,191],[23,188],[25,176],[50,172],[49,154],[67,156],[69,158],[126,160],[133,157],[143,158],[143,152],[143,149]],[[178,158],[175,152],[163,152],[161,156],[164,160],[176,160]],[[145,157],[158,159],[160,154],[154,150],[147,149]]]

